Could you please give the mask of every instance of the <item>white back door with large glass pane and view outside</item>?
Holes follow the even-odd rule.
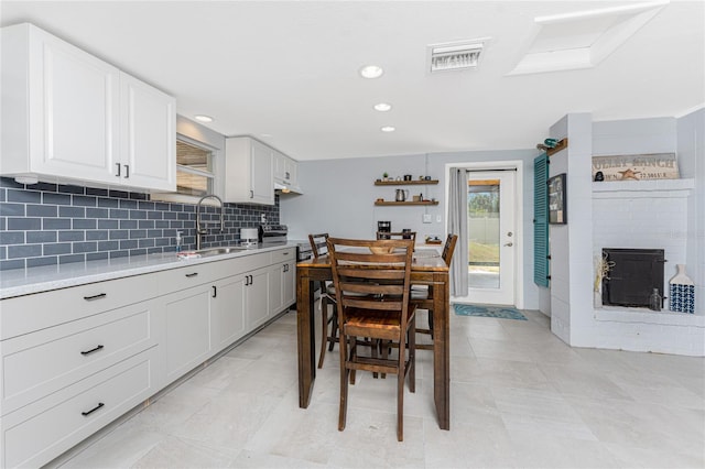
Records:
[[[516,299],[516,171],[468,172],[468,299]]]

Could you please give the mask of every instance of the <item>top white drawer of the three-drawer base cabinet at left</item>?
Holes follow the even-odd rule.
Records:
[[[154,296],[152,275],[134,275],[0,301],[0,340]]]

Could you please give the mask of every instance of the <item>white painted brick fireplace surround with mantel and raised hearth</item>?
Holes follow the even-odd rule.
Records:
[[[688,197],[694,179],[593,183],[593,253],[603,248],[663,249],[664,292],[686,264]],[[703,298],[696,298],[702,302]],[[697,309],[702,309],[699,306]],[[604,306],[594,310],[596,347],[702,355],[705,316]]]

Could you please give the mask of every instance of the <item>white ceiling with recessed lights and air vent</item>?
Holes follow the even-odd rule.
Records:
[[[303,161],[529,149],[568,112],[677,117],[705,103],[703,1],[671,1],[592,68],[508,75],[546,31],[585,40],[571,36],[577,23],[541,35],[536,18],[633,3],[3,0],[0,25],[32,22],[175,96],[180,114]],[[595,24],[583,29],[599,35]],[[426,73],[429,44],[476,37],[490,37],[479,69]],[[384,75],[360,78],[366,64]]]

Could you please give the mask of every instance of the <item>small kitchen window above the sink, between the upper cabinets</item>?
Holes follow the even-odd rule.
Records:
[[[213,151],[193,140],[176,140],[176,192],[202,197],[213,194]]]

